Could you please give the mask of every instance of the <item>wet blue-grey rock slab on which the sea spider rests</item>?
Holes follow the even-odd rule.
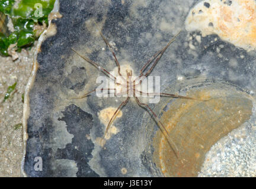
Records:
[[[227,171],[223,171],[224,165],[222,169],[216,168],[216,165],[206,164],[202,157],[215,157],[211,155],[216,153],[215,150],[227,156],[223,148],[229,143],[221,141],[221,138],[232,129],[249,125],[248,129],[254,131],[256,54],[255,51],[247,53],[222,41],[217,35],[202,37],[199,31],[184,30],[185,18],[194,4],[192,0],[60,1],[62,18],[53,21],[57,27],[56,35],[47,38],[41,45],[37,56],[39,69],[29,94],[30,115],[24,162],[24,172],[28,177],[187,176],[179,173],[181,167],[161,167],[183,166],[181,161],[185,160],[171,161],[174,158],[171,157],[165,159],[164,164],[159,163],[159,153],[164,153],[162,158],[166,158],[165,152],[159,151],[163,141],[155,139],[161,138],[161,133],[151,115],[133,98],[123,107],[122,116],[113,122],[118,132],[106,139],[103,147],[98,145],[98,138],[103,136],[105,129],[99,113],[108,107],[118,107],[124,97],[97,97],[92,93],[84,99],[72,99],[95,89],[98,86],[97,77],[105,75],[71,48],[108,71],[113,70],[116,63],[99,30],[113,45],[119,63],[129,64],[135,75],[139,75],[146,61],[182,30],[151,76],[161,76],[162,92],[201,99],[207,97],[212,101],[208,104],[201,102],[200,106],[196,106],[197,112],[193,112],[193,106],[184,109],[186,103],[194,102],[184,102],[183,105],[183,101],[168,97],[161,97],[159,103],[149,106],[159,115],[159,119],[163,119],[171,135],[176,137],[174,141],[181,155],[188,159],[200,159],[200,163],[195,164],[197,167],[189,165],[187,168],[192,173],[189,176],[197,176],[201,166],[204,170],[200,176],[218,175],[218,171],[222,171],[219,175],[228,175]],[[209,94],[201,95],[201,90]],[[180,112],[180,116],[175,116],[172,108]],[[201,110],[208,112],[200,114]],[[196,113],[199,118],[194,119]],[[206,118],[201,119],[200,115]],[[219,122],[216,124],[213,120]],[[232,125],[232,121],[236,123]],[[190,123],[193,123],[191,127],[188,126]],[[206,123],[209,123],[208,127],[204,125]],[[220,128],[222,123],[228,125],[228,130]],[[206,136],[205,129],[209,126],[212,126],[210,131],[214,137],[211,141],[205,138],[205,144],[201,141],[201,145],[207,148],[199,150],[198,138]],[[193,129],[196,130],[193,132]],[[211,134],[207,132],[207,136]],[[196,138],[196,135],[199,137]],[[229,139],[232,140],[232,137]],[[219,148],[210,148],[217,141],[221,144]],[[194,148],[188,150],[186,145]],[[244,143],[244,146],[248,145]],[[199,151],[201,154],[196,154]],[[159,152],[158,155],[154,155],[156,152]],[[36,157],[42,158],[42,171],[34,169]],[[215,158],[221,162],[220,159],[219,156]],[[228,161],[228,158],[225,159]],[[231,162],[226,162],[226,165]],[[245,165],[244,162],[241,166]],[[252,164],[248,162],[246,165]]]

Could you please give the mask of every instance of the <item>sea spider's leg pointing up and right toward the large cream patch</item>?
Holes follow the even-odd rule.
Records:
[[[180,31],[181,32],[181,31]],[[169,43],[162,48],[162,50],[158,51],[158,53],[156,53],[151,59],[149,59],[149,61],[143,66],[143,68],[140,70],[140,76],[137,77],[135,80],[140,79],[140,77],[143,76],[142,79],[140,79],[140,83],[142,82],[143,79],[145,79],[145,77],[147,77],[151,71],[153,70],[153,68],[155,67],[155,65],[158,63],[158,61],[160,60],[160,58],[162,57],[162,55],[164,54],[165,50],[167,50],[167,48],[169,47],[169,45],[175,40],[175,38],[180,34],[180,32],[178,32],[178,34],[176,34],[174,37],[172,37],[172,39],[169,41]],[[145,71],[146,67],[148,67],[148,65],[155,60],[155,62],[152,64],[151,68],[146,72],[146,74],[143,74],[143,71]]]

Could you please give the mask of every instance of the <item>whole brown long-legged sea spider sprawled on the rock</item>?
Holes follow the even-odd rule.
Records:
[[[178,33],[180,34],[180,32]],[[177,35],[178,35],[177,34]],[[123,76],[123,74],[121,74],[121,69],[120,69],[120,64],[119,61],[116,58],[116,54],[114,53],[113,47],[111,46],[110,43],[108,43],[107,39],[104,37],[104,35],[102,34],[102,32],[100,31],[100,35],[103,38],[103,40],[105,41],[105,44],[107,45],[107,47],[110,49],[111,53],[113,54],[114,57],[114,61],[117,64],[117,68],[118,68],[118,74],[119,77],[121,77],[121,81],[123,82],[117,82],[117,77],[113,76],[113,74],[111,74],[109,71],[107,71],[106,69],[104,69],[103,67],[101,67],[98,63],[95,63],[95,61],[90,60],[87,57],[82,56],[81,54],[79,54],[76,50],[74,50],[73,48],[71,48],[76,54],[78,54],[78,56],[80,56],[81,58],[83,58],[85,61],[88,61],[88,63],[92,64],[93,66],[97,67],[97,69],[100,69],[104,74],[106,74],[108,77],[110,77],[110,79],[114,80],[115,83],[115,87],[113,89],[110,88],[102,88],[100,90],[105,90],[107,92],[110,92],[110,90],[114,90],[114,96],[120,96],[121,94],[126,94],[126,100],[124,100],[119,107],[116,109],[116,111],[114,112],[113,116],[111,117],[110,121],[108,122],[107,128],[105,129],[103,138],[105,137],[105,135],[108,132],[108,129],[110,128],[110,125],[113,121],[113,119],[115,118],[115,116],[117,115],[117,112],[124,106],[126,105],[126,103],[129,101],[130,97],[134,97],[137,104],[139,106],[145,107],[146,110],[148,111],[149,114],[152,114],[152,117],[155,118],[155,121],[157,123],[157,125],[159,126],[159,128],[161,129],[162,133],[164,134],[165,138],[168,141],[169,146],[171,147],[172,151],[174,151],[175,156],[177,157],[177,152],[178,152],[178,148],[175,145],[175,143],[172,141],[172,139],[169,137],[169,133],[167,132],[167,129],[165,129],[165,126],[162,124],[162,122],[158,119],[158,116],[156,116],[156,113],[153,112],[153,110],[151,109],[151,107],[149,107],[149,105],[147,105],[146,103],[142,103],[140,102],[140,100],[137,98],[138,94],[145,94],[145,95],[159,95],[159,96],[168,96],[168,97],[174,97],[174,98],[180,98],[180,99],[191,99],[191,100],[200,100],[200,99],[195,99],[193,97],[187,97],[187,96],[179,96],[179,95],[175,95],[175,94],[168,94],[168,93],[148,93],[148,92],[143,92],[139,89],[137,89],[137,86],[140,86],[140,84],[142,84],[142,80],[144,80],[146,77],[148,77],[148,75],[151,73],[151,71],[153,70],[153,68],[156,66],[156,64],[158,63],[158,61],[160,60],[160,58],[162,57],[162,55],[164,54],[165,50],[167,50],[167,48],[169,47],[169,45],[175,40],[175,38],[177,37],[177,35],[175,35],[170,41],[169,43],[162,48],[161,50],[159,50],[157,53],[155,53],[147,62],[146,64],[142,67],[142,69],[140,70],[140,74],[138,77],[136,77],[135,79],[133,78],[133,73],[132,70],[130,69],[126,69],[126,77]],[[148,69],[148,71],[145,71],[149,65],[152,63],[152,66]],[[146,72],[146,73],[144,73]],[[121,92],[117,93],[117,87],[116,86],[121,86]],[[83,94],[82,96],[79,97],[75,97],[72,99],[82,99],[84,97],[87,97],[89,94],[93,93],[93,92],[97,92],[97,89],[94,89],[88,93]],[[102,139],[103,139],[102,138]],[[172,147],[172,145],[174,146],[174,148]]]

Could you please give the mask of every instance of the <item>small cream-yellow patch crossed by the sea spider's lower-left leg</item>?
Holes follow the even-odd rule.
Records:
[[[116,108],[115,107],[107,107],[103,110],[100,111],[100,113],[98,114],[99,119],[101,120],[101,122],[105,125],[105,129],[107,128],[108,123],[110,122],[110,119],[112,118],[112,116],[114,115],[114,113],[116,112]],[[108,132],[105,135],[105,139],[110,139],[111,135],[116,135],[118,131],[118,129],[116,128],[116,126],[114,126],[112,123],[114,122],[114,120],[116,118],[120,118],[123,115],[123,112],[121,112],[121,110],[119,110],[116,113],[116,116],[114,116],[110,128],[108,129]]]

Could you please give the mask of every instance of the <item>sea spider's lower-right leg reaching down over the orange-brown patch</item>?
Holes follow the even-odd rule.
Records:
[[[164,125],[162,124],[162,122],[158,119],[158,116],[156,116],[155,112],[153,112],[153,110],[149,107],[149,105],[145,104],[145,103],[141,103],[139,101],[139,99],[135,96],[136,102],[140,105],[140,106],[144,106],[147,107],[146,110],[149,110],[149,112],[152,113],[153,117],[156,120],[156,123],[158,123],[157,125],[159,126],[160,130],[162,131],[162,133],[164,134],[165,138],[167,139],[167,142],[169,144],[169,146],[171,147],[172,151],[174,152],[175,156],[178,158],[177,152],[178,152],[178,148],[175,145],[174,141],[172,141],[172,139],[169,137],[169,133],[167,132],[167,129],[165,129]],[[174,146],[174,148],[176,149],[176,151],[174,150],[174,148],[172,147]]]

